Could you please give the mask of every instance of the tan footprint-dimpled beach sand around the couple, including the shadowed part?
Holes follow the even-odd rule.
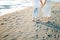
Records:
[[[51,9],[48,23],[33,22],[32,7],[0,16],[0,40],[60,40],[60,3]]]

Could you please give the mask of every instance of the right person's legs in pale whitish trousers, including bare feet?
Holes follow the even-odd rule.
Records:
[[[46,4],[43,8],[43,20],[44,22],[48,22],[51,17],[51,5]]]

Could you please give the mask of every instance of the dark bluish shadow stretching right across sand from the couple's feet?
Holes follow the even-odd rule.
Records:
[[[51,27],[53,29],[57,29],[57,30],[60,30],[60,25],[56,24],[56,23],[52,23],[50,21],[48,21],[47,23],[45,22],[42,22],[42,21],[36,21],[36,25],[37,24],[40,24],[40,25],[45,25],[47,27]]]

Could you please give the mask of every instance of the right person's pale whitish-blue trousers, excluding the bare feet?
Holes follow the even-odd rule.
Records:
[[[51,3],[46,3],[42,11],[43,17],[51,17]]]

